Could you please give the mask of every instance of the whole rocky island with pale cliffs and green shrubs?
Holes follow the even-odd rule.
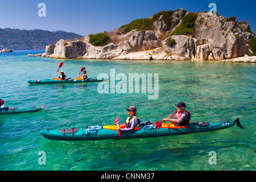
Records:
[[[256,56],[247,56],[253,54],[251,39],[256,38],[249,24],[236,17],[179,9],[160,11],[75,41],[61,39],[46,46],[40,56],[117,60],[235,60],[245,56],[245,62],[256,62]]]

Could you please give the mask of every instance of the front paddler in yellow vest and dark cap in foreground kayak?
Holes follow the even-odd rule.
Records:
[[[126,119],[125,124],[120,124],[119,122],[117,122],[118,125],[125,125],[124,129],[118,128],[118,131],[124,131],[124,132],[133,131],[134,129],[138,128],[139,123],[141,123],[141,119],[136,116],[137,108],[135,106],[130,106],[126,110],[128,111],[128,114],[130,115],[130,117]]]

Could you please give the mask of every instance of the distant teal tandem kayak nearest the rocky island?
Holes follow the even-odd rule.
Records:
[[[73,83],[85,83],[85,82],[101,82],[101,81],[108,81],[108,78],[87,78],[83,80],[81,78],[67,78],[65,80],[61,79],[45,79],[45,80],[28,80],[27,82],[30,84],[73,84]]]

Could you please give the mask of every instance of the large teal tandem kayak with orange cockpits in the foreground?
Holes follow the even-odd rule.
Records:
[[[214,123],[189,123],[189,126],[177,127],[171,123],[164,123],[160,129],[157,129],[152,123],[150,125],[141,125],[140,129],[132,132],[117,133],[117,125],[109,126],[88,126],[84,128],[71,128],[60,130],[42,130],[40,134],[48,139],[55,140],[104,140],[104,139],[133,139],[133,138],[153,138],[166,137],[170,135],[182,135],[191,133],[201,133],[205,131],[214,131],[226,129],[228,127],[241,126],[239,119],[234,122],[214,122]]]

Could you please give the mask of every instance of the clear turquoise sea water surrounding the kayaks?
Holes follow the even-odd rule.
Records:
[[[62,60],[0,53],[0,98],[5,106],[45,104],[51,111],[0,116],[0,170],[255,170],[256,64],[214,61]],[[159,73],[159,97],[148,93],[100,94],[98,84],[30,85],[27,80],[51,78],[59,63],[67,77],[86,67],[100,73]],[[117,84],[116,81],[115,84]],[[170,137],[59,141],[40,135],[42,129],[113,125],[125,121],[130,105],[143,121],[161,121],[187,104],[191,122],[234,121],[237,126],[208,133]],[[46,153],[40,165],[38,153]],[[217,164],[209,164],[210,151]]]

